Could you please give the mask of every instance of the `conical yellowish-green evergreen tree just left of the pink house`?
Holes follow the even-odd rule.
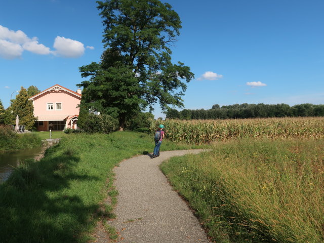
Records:
[[[24,125],[26,130],[32,129],[36,119],[34,117],[34,106],[28,98],[27,90],[21,87],[19,94],[12,103],[13,115],[19,116],[19,124]]]

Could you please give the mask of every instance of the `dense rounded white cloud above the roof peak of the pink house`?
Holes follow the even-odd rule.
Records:
[[[57,36],[54,46],[55,53],[62,57],[80,57],[85,53],[85,46],[73,39]]]

